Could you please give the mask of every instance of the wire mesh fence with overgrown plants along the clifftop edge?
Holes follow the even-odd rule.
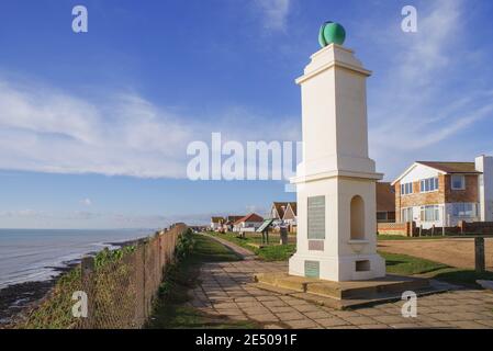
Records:
[[[179,224],[136,246],[85,258],[29,310],[15,328],[141,328],[150,315],[166,267],[175,257]]]

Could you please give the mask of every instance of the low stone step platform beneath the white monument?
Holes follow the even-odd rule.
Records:
[[[256,274],[255,281],[259,288],[336,309],[400,301],[405,291],[424,296],[442,293],[450,288],[449,285],[430,283],[424,278],[391,274],[368,281],[332,282],[287,273],[262,273]]]

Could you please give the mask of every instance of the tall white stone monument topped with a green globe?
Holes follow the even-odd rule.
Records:
[[[368,155],[366,79],[371,72],[337,44],[345,37],[340,25],[324,26],[324,47],[296,80],[303,162],[291,181],[298,191],[298,251],[289,273],[335,282],[382,278],[376,210],[382,174]]]

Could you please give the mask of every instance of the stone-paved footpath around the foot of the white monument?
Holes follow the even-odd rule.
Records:
[[[254,320],[266,328],[493,328],[493,293],[486,291],[458,290],[419,297],[417,318],[404,318],[403,302],[335,310],[254,284],[254,273],[287,270],[287,262],[258,260],[204,264],[190,304],[210,315]]]

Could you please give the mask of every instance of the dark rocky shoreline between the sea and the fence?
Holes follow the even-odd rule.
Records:
[[[124,241],[103,242],[103,245],[107,246],[107,248],[110,247],[110,249],[117,250],[127,246],[137,245],[146,238],[147,237]],[[102,250],[104,250],[104,248]],[[100,251],[82,253],[78,259],[61,262],[61,267],[45,267],[53,270],[54,276],[44,281],[27,281],[7,285],[0,288],[0,329],[9,326],[15,316],[20,315],[23,310],[45,297],[46,294],[56,285],[58,279],[64,273],[77,267],[82,257],[96,256]]]

